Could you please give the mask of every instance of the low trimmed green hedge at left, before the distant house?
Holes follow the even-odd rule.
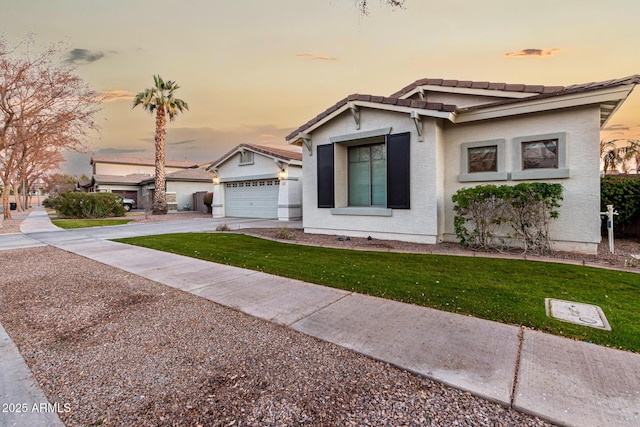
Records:
[[[124,216],[122,196],[115,193],[62,193],[52,202],[58,215],[67,218]]]

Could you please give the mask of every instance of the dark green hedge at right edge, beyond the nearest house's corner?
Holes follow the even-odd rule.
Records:
[[[613,231],[624,236],[629,227],[640,218],[640,179],[604,176],[600,180],[600,209],[613,205],[618,215],[613,219]]]

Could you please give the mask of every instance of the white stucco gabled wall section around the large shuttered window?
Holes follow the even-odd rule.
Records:
[[[407,113],[390,113],[379,110],[361,109],[360,129],[350,113],[344,113],[327,125],[312,133],[313,151],[303,148],[303,226],[305,231],[323,234],[344,234],[349,236],[372,236],[380,239],[400,239],[405,241],[435,243],[437,225],[437,158],[433,155],[436,146],[436,124],[433,119],[424,120],[423,142],[418,135],[413,120]],[[317,155],[318,145],[329,144],[337,135],[354,134],[380,128],[391,127],[391,133],[411,133],[411,209],[393,209],[392,215],[335,215],[331,209],[319,209],[317,200]],[[337,144],[338,145],[338,144]],[[340,154],[340,153],[343,154]],[[346,207],[346,149],[336,147],[336,207]]]

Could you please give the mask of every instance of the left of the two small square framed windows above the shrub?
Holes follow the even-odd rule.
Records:
[[[458,181],[506,181],[504,160],[504,139],[462,143]]]

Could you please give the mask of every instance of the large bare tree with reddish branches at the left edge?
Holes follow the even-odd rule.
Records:
[[[32,41],[9,47],[0,39],[0,163],[5,189],[29,180],[36,167],[56,168],[62,150],[82,151],[100,100],[60,64],[57,47],[31,52]],[[40,170],[39,173],[43,171]],[[4,218],[11,218],[3,192]]]

